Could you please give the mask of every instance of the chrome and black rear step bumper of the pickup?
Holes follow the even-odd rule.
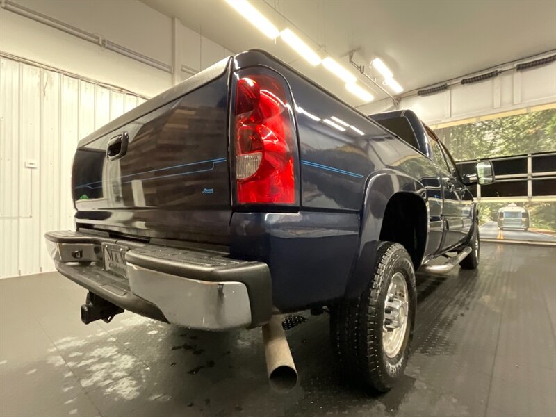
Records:
[[[205,330],[259,327],[270,320],[265,263],[72,231],[45,237],[61,274],[122,309]],[[126,247],[122,275],[104,269],[103,243]]]

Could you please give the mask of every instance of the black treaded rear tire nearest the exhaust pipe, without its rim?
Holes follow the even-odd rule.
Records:
[[[398,354],[389,357],[382,345],[384,303],[393,275],[401,272],[407,286],[407,326]],[[367,391],[386,392],[403,375],[413,337],[416,313],[414,265],[399,243],[384,242],[377,250],[373,274],[365,291],[355,300],[332,306],[332,350],[348,381]]]

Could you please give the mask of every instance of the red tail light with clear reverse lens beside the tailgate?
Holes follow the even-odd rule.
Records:
[[[295,130],[287,97],[275,76],[239,76],[233,130],[239,204],[295,204]]]

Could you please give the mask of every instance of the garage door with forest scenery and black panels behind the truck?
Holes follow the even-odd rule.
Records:
[[[462,174],[483,159],[496,183],[472,186],[482,239],[556,245],[556,105],[437,129]]]

